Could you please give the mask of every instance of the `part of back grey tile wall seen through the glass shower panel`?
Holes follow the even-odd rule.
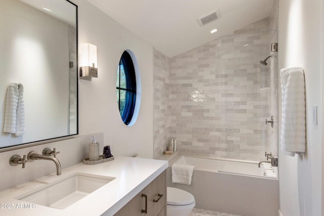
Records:
[[[249,29],[269,26],[269,19]],[[246,29],[242,30],[245,31]],[[260,60],[270,54],[269,31],[241,33],[219,38],[220,143],[215,155],[234,159],[261,160],[268,151],[270,87],[269,66]],[[225,146],[226,151],[218,146]]]

